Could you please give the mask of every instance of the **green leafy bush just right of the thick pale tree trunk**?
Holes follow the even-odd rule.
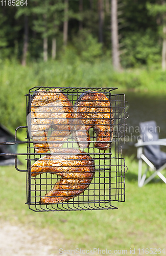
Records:
[[[161,45],[150,30],[147,30],[146,33],[130,32],[123,42],[125,51],[121,58],[124,67],[150,66],[161,59]]]

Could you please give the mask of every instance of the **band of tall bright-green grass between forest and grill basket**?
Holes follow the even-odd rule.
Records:
[[[65,55],[61,60],[30,62],[26,67],[15,60],[0,62],[1,122],[10,130],[26,123],[29,89],[44,87],[114,87],[115,93],[166,94],[166,73],[158,67],[141,67],[114,72],[110,59],[83,62]]]

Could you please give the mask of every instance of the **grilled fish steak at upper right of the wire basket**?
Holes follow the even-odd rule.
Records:
[[[107,150],[113,137],[113,111],[110,100],[103,93],[86,91],[77,99],[74,108],[76,118],[85,124],[87,138],[91,127],[96,132],[97,142],[94,147]],[[76,137],[80,144],[78,132]]]

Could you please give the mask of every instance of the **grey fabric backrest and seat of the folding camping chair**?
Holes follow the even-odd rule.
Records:
[[[139,127],[143,142],[152,142],[159,139],[155,121],[140,122]],[[166,163],[166,153],[160,150],[159,145],[144,146],[144,155],[154,164],[156,169]]]

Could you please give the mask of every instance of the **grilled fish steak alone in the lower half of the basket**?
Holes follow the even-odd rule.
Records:
[[[42,173],[57,174],[61,179],[40,202],[66,202],[83,193],[89,186],[95,173],[94,160],[80,150],[60,150],[58,155],[46,155],[31,166],[32,177]]]

